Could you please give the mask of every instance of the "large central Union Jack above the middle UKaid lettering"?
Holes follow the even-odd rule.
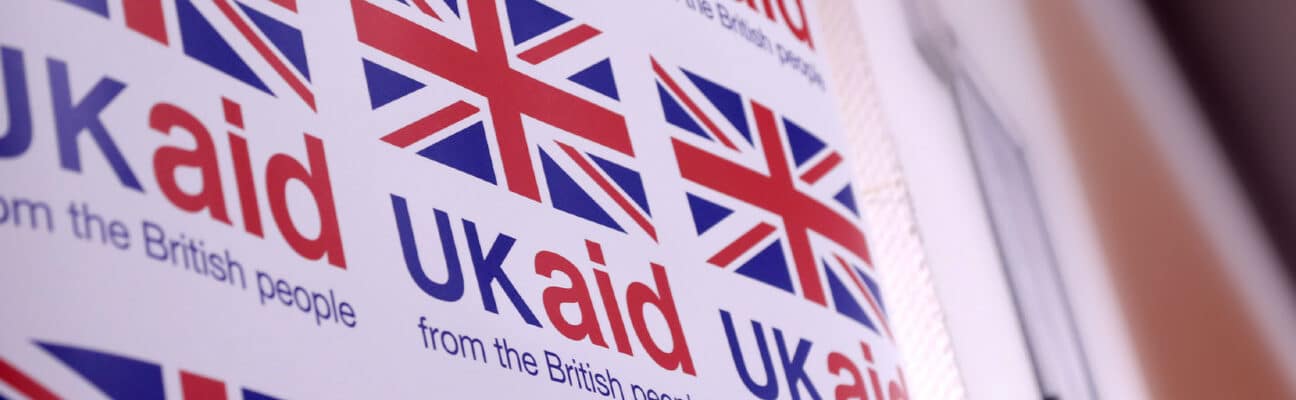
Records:
[[[638,227],[657,238],[643,180],[627,167],[635,151],[625,118],[613,111],[612,44],[599,30],[537,0],[351,5],[368,45],[360,66],[382,141],[599,225]]]

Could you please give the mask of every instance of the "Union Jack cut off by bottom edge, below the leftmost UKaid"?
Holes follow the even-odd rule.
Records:
[[[82,347],[36,342],[47,353],[76,372],[109,399],[166,399],[163,368],[156,362],[93,351]],[[184,369],[180,373],[180,394],[184,400],[228,399],[226,382]],[[54,391],[0,357],[0,399],[4,387],[32,399],[61,399]],[[250,390],[237,390],[245,400],[273,400],[277,397]]]

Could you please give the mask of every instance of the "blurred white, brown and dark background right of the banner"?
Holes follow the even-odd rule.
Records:
[[[853,12],[870,78],[853,84],[879,93],[959,375],[937,386],[1296,397],[1296,5]]]

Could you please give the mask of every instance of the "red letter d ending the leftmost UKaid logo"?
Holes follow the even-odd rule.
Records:
[[[275,217],[279,232],[303,258],[319,260],[328,256],[328,263],[337,268],[346,269],[346,256],[342,254],[342,233],[337,227],[337,210],[333,206],[333,186],[329,184],[328,162],[324,159],[324,142],[311,135],[303,135],[306,140],[306,157],[311,168],[306,170],[299,162],[286,154],[275,154],[266,164],[266,192],[270,194],[270,214]],[[319,210],[320,233],[318,237],[307,238],[297,229],[293,217],[288,214],[288,181],[297,180],[306,185],[315,199]],[[240,188],[240,190],[253,188]]]

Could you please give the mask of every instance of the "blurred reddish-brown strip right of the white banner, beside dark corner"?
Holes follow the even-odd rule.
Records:
[[[1108,273],[1157,399],[1291,399],[1277,347],[1151,127],[1064,1],[1029,3]]]

